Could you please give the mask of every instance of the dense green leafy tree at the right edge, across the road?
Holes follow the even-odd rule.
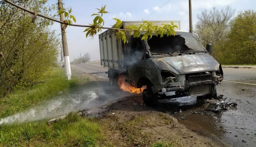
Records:
[[[239,12],[231,21],[228,41],[224,44],[223,63],[256,64],[256,12]]]

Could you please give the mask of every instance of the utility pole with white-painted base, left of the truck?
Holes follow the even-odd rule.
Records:
[[[62,9],[62,0],[58,0],[59,10]],[[64,21],[64,14],[60,14],[61,21]],[[71,79],[71,68],[69,63],[69,55],[67,48],[67,36],[66,36],[66,28],[64,24],[61,24],[61,36],[62,36],[62,46],[63,46],[63,55],[64,55],[64,65],[65,65],[65,73],[68,80]]]

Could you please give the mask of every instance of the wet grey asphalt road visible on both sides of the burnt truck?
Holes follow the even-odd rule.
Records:
[[[97,73],[106,77],[107,67],[101,67],[99,63],[93,65],[74,65],[85,73]],[[202,107],[202,101],[195,98],[178,98],[175,100],[161,101],[159,111],[176,114],[174,105],[166,103],[178,103],[177,109],[181,109],[181,115],[173,115],[178,120],[184,116],[187,127],[192,125],[202,128],[221,138],[232,146],[254,147],[256,144],[256,68],[223,68],[224,80],[217,86],[218,94],[231,98],[230,102],[237,103],[237,107],[222,111],[213,116],[192,115],[189,111]],[[205,102],[203,102],[205,103]],[[190,105],[191,107],[188,107]],[[182,107],[184,106],[184,107]],[[164,108],[162,108],[164,107]],[[172,110],[171,110],[172,109]],[[176,109],[176,110],[177,110]],[[195,129],[197,129],[195,127]]]

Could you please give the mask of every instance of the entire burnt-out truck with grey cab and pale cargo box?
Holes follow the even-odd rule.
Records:
[[[101,65],[108,67],[109,84],[117,85],[118,75],[126,76],[132,87],[146,88],[142,97],[146,105],[156,105],[158,99],[181,96],[216,97],[216,85],[223,79],[221,64],[211,56],[211,44],[206,49],[189,32],[180,31],[180,21],[150,21],[154,25],[173,22],[175,36],[156,36],[141,40],[127,36],[127,43],[117,39],[115,31],[99,34]],[[122,29],[141,24],[124,21]],[[143,35],[143,32],[142,32]],[[175,91],[166,96],[162,89]],[[162,93],[162,94],[161,94]]]

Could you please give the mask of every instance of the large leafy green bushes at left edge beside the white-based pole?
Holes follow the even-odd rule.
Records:
[[[17,0],[19,5],[48,15],[54,7],[44,7],[46,2]],[[0,0],[0,96],[42,80],[55,64],[59,40],[48,29],[51,24]]]

